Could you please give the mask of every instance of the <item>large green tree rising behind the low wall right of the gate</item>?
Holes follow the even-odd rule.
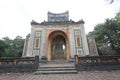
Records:
[[[104,45],[120,53],[120,24],[117,19],[106,19],[105,23],[96,25],[93,33],[98,47]]]

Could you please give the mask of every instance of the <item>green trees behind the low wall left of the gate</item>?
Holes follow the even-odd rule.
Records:
[[[24,46],[24,39],[17,36],[15,39],[4,37],[0,40],[0,57],[21,57]]]

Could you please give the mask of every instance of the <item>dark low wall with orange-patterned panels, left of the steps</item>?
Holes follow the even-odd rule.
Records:
[[[1,72],[33,72],[39,66],[39,57],[0,58]]]

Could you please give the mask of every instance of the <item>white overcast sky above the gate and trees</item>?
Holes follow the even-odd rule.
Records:
[[[47,12],[69,11],[69,19],[85,21],[85,32],[94,29],[106,18],[120,11],[120,0],[109,4],[106,0],[0,0],[0,39],[17,35],[26,37],[31,32],[30,22],[47,21]]]

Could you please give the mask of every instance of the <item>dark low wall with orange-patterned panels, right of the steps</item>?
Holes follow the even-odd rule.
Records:
[[[120,70],[120,56],[78,57],[76,68],[83,70]]]

